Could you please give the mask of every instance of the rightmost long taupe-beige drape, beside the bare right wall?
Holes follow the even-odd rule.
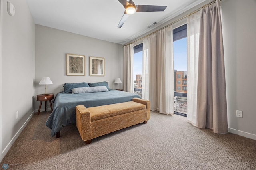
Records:
[[[201,10],[198,58],[198,128],[228,132],[224,50],[220,2]]]

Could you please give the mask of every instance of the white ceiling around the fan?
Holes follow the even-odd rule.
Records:
[[[167,6],[164,12],[136,12],[122,28],[118,0],[26,0],[35,24],[124,45],[205,0],[134,0],[136,5]],[[157,22],[151,28],[150,24]]]

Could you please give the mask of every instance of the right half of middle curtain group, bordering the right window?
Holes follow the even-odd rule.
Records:
[[[159,113],[174,115],[173,110],[173,35],[172,26],[157,32],[156,69]]]

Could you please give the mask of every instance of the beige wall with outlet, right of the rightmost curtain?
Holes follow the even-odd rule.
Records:
[[[256,1],[223,0],[221,6],[228,128],[256,140]]]

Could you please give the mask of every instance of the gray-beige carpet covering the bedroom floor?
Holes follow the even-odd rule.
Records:
[[[186,117],[151,112],[138,124],[86,145],[76,125],[61,137],[44,123],[50,113],[33,115],[0,166],[22,170],[255,170],[256,140],[214,134],[186,122]]]

